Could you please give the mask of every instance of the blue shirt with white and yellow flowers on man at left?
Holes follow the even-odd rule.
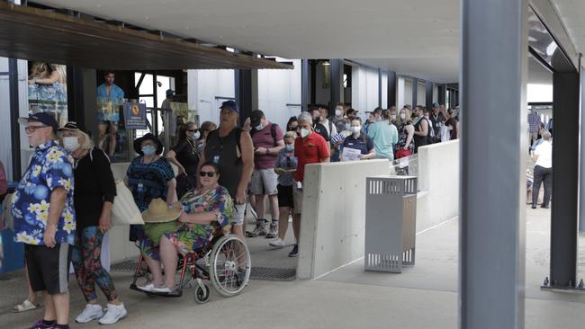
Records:
[[[50,195],[62,187],[67,191],[67,199],[58,219],[55,240],[58,244],[75,244],[74,186],[73,157],[54,140],[36,147],[31,164],[14,191],[11,210],[16,242],[45,244],[43,235],[49,219]]]

